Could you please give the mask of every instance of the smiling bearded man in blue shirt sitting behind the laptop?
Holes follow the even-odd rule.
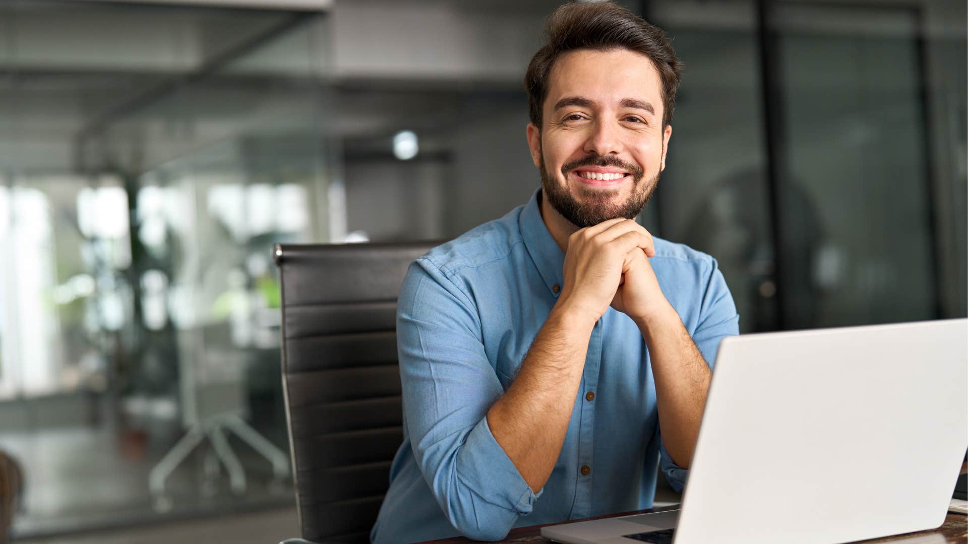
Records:
[[[610,3],[562,6],[547,31],[526,76],[541,190],[401,288],[404,443],[374,542],[648,508],[659,462],[681,490],[738,333],[715,261],[633,221],[672,134],[664,34]]]

